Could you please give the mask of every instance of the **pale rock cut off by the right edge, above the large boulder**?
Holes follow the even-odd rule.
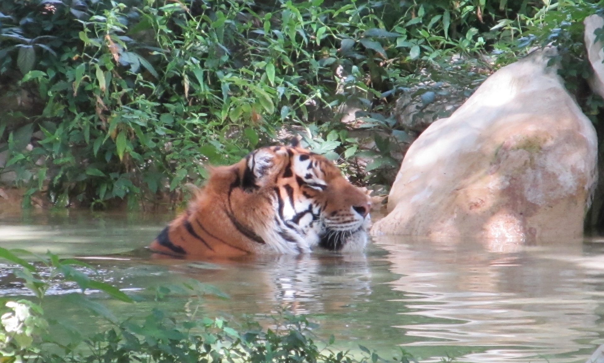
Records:
[[[591,89],[604,98],[604,49],[602,42],[596,40],[596,30],[604,27],[604,19],[599,14],[593,14],[585,18],[585,48],[594,71],[592,77],[588,78]]]

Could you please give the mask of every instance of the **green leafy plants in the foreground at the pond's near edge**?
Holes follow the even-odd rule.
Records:
[[[144,318],[119,320],[99,301],[83,293],[72,294],[74,301],[90,309],[106,324],[94,333],[82,336],[64,321],[48,319],[43,312],[43,298],[51,286],[75,282],[84,292],[95,289],[125,302],[132,299],[114,286],[89,276],[89,265],[78,260],[60,260],[48,253],[38,256],[40,264],[31,264],[0,247],[0,257],[20,268],[16,277],[25,283],[35,298],[15,300],[0,298],[0,362],[240,362],[240,363],[376,363],[382,361],[375,352],[360,346],[362,355],[334,350],[333,336],[326,344],[313,341],[316,324],[304,316],[284,312],[274,326],[263,328],[250,321],[237,327],[223,318],[210,318],[190,309],[185,317],[175,318],[179,309],[167,313],[153,309]],[[16,251],[24,253],[24,251]],[[49,273],[50,271],[50,273]],[[224,297],[212,286],[193,280],[181,286],[182,294],[202,298],[206,294]],[[170,288],[156,288],[156,298],[170,294]],[[199,301],[201,303],[201,300]],[[191,302],[194,305],[194,301]],[[67,333],[65,333],[67,330]],[[392,363],[415,362],[405,352]]]

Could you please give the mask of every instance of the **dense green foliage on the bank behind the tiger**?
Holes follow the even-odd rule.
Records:
[[[387,184],[422,131],[415,118],[445,116],[431,106],[467,97],[530,46],[554,42],[568,78],[580,77],[581,22],[596,10],[580,0],[2,2],[0,80],[13,84],[2,92],[25,106],[1,103],[0,174],[29,186],[26,204],[43,190],[58,206],[146,206],[178,199],[207,164],[299,133],[353,182]],[[419,112],[402,124],[405,107]],[[355,111],[362,122],[340,122]]]

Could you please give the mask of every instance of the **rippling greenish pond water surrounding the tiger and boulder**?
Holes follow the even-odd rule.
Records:
[[[423,361],[584,362],[604,343],[602,238],[526,246],[382,237],[358,256],[153,259],[143,247],[171,217],[72,210],[0,215],[0,245],[88,257],[102,279],[133,293],[188,279],[211,283],[231,298],[202,301],[210,314],[270,321],[288,308],[311,314],[320,336],[335,335],[339,349],[363,344],[386,357],[400,346]],[[108,254],[119,259],[98,258]],[[24,294],[9,270],[0,265],[0,295]],[[88,316],[65,295],[76,290],[53,289],[47,312],[85,327]],[[144,315],[153,306],[104,302],[120,315]],[[177,295],[162,308],[198,303]]]

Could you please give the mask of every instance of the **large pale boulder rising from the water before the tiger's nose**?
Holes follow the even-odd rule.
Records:
[[[409,148],[376,234],[530,240],[580,235],[596,182],[593,125],[533,52],[491,75]]]

